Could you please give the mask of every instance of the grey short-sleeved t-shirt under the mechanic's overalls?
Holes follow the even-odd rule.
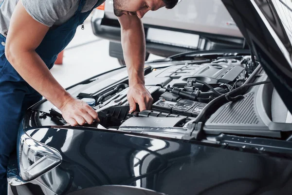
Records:
[[[18,1],[4,0],[0,7],[0,34],[5,37],[9,29],[10,18]],[[81,12],[90,11],[98,1],[86,0]],[[49,27],[59,26],[68,21],[75,14],[79,2],[80,0],[22,0],[28,14]]]

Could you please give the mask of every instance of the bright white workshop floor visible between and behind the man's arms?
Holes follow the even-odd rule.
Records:
[[[120,67],[118,60],[109,55],[110,41],[93,34],[91,17],[84,22],[84,30],[81,26],[77,28],[75,37],[64,50],[63,63],[55,64],[51,69],[64,88]],[[149,56],[149,60],[160,58]]]

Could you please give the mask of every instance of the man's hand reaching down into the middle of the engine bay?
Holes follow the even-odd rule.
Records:
[[[130,86],[127,98],[130,105],[129,113],[136,110],[136,103],[138,103],[140,111],[151,109],[153,98],[144,84]]]

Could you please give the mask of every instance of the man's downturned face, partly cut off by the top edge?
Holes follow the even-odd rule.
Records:
[[[113,12],[117,17],[137,15],[141,19],[147,11],[156,11],[164,6],[162,0],[113,0]]]

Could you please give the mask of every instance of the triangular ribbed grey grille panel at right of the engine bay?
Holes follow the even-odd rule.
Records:
[[[255,93],[244,96],[237,102],[231,102],[223,107],[211,123],[227,124],[258,124],[254,107]]]

